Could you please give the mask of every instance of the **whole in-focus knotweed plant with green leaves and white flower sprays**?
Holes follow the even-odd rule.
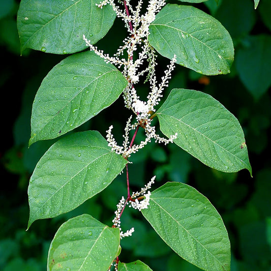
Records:
[[[150,192],[155,176],[141,190],[132,192],[128,168],[133,166],[130,156],[154,140],[174,142],[209,167],[224,172],[246,168],[251,173],[243,130],[217,100],[199,91],[178,88],[160,104],[176,64],[204,75],[229,73],[234,55],[231,37],[219,21],[193,6],[166,5],[165,0],[135,2],[20,3],[21,51],[32,48],[74,53],[53,67],[38,89],[29,145],[72,131],[121,95],[124,106],[131,110],[122,144],[116,142],[110,126],[106,138],[98,131],[69,133],[47,150],[29,181],[28,228],[35,220],[76,208],[125,171],[127,195],[116,193],[119,203],[112,224],[104,225],[88,214],[65,222],[50,245],[47,270],[151,270],[141,261],[119,260],[121,239],[134,231],[133,225],[127,231],[121,228],[127,206],[138,209],[180,257],[203,270],[230,270],[228,234],[208,199],[178,182],[165,183]],[[106,35],[116,16],[124,21],[128,35],[110,56],[93,44]],[[160,78],[156,75],[157,52],[170,59]],[[146,101],[137,92],[140,80],[149,87]],[[157,133],[155,117],[165,137]],[[145,139],[136,144],[139,129]]]

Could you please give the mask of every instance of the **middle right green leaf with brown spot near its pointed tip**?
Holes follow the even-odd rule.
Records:
[[[191,89],[172,89],[157,111],[160,129],[205,165],[251,173],[244,132],[238,120],[212,96]]]

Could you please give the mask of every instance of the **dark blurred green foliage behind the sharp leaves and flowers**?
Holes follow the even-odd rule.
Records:
[[[164,147],[150,143],[132,156],[130,181],[134,190],[154,174],[157,187],[168,180],[192,185],[214,204],[224,220],[232,249],[231,270],[267,271],[271,270],[271,148],[268,140],[271,136],[271,5],[270,0],[261,0],[255,11],[252,0],[220,0],[218,3],[217,6],[215,0],[209,0],[195,6],[217,18],[233,38],[235,59],[231,73],[207,77],[177,66],[164,97],[172,88],[190,88],[220,101],[244,129],[253,178],[247,170],[223,173],[210,169],[174,144]],[[67,219],[86,213],[112,225],[115,205],[126,195],[126,179],[124,175],[118,176],[102,193],[72,212],[38,220],[25,231],[29,212],[28,180],[40,157],[55,141],[39,141],[27,147],[32,103],[42,79],[66,56],[34,50],[25,50],[20,56],[16,28],[18,5],[19,1],[15,0],[0,2],[4,139],[0,149],[0,269],[42,271],[46,268],[49,244]],[[122,29],[122,22],[116,19],[98,47],[113,54],[126,35]],[[163,71],[168,60],[158,59]],[[144,97],[146,86],[139,89]],[[76,131],[99,130],[105,136],[113,124],[121,142],[129,114],[123,107],[123,99],[119,98]],[[122,262],[140,259],[156,271],[199,270],[167,247],[139,212],[128,208],[122,217],[122,228],[126,230],[131,226],[135,228],[132,237],[121,242]]]

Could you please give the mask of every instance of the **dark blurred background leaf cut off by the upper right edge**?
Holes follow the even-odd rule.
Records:
[[[243,84],[258,100],[271,85],[271,37],[247,37],[244,45],[236,53],[236,69]]]

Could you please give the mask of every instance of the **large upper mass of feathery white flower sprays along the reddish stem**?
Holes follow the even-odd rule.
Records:
[[[97,47],[91,44],[91,41],[87,40],[85,36],[83,39],[86,45],[89,46],[97,55],[104,58],[105,62],[111,63],[118,68],[123,67],[122,73],[128,80],[128,85],[123,92],[125,106],[130,108],[135,116],[136,122],[131,124],[131,117],[128,119],[124,142],[122,146],[117,145],[111,131],[113,126],[110,126],[107,130],[108,145],[116,152],[121,154],[124,158],[129,158],[132,153],[137,152],[138,149],[144,147],[152,138],[156,142],[163,142],[165,144],[172,142],[176,138],[177,134],[170,136],[169,139],[160,137],[156,134],[155,127],[151,126],[152,117],[151,113],[155,112],[155,106],[158,105],[162,97],[162,93],[165,87],[168,86],[168,81],[171,78],[171,72],[174,69],[174,63],[176,57],[174,56],[170,64],[167,66],[165,75],[162,77],[161,82],[157,83],[155,74],[156,54],[152,46],[148,43],[147,37],[149,34],[149,25],[155,19],[156,14],[166,4],[165,0],[149,0],[145,13],[141,14],[141,8],[143,0],[137,2],[136,7],[130,4],[130,0],[117,1],[119,4],[115,4],[114,0],[104,0],[98,7],[103,8],[109,4],[112,6],[116,15],[122,18],[125,22],[125,26],[128,30],[129,37],[123,41],[123,45],[120,46],[113,57],[105,54],[102,50],[98,50]],[[123,7],[121,5],[124,5]],[[138,50],[137,59],[134,58],[134,52]],[[127,53],[128,58],[123,58],[124,53]],[[146,68],[142,68],[142,64],[147,62]],[[145,82],[150,84],[150,92],[147,96],[147,101],[140,100],[137,95],[135,84],[139,82],[141,76],[146,74]],[[145,129],[146,138],[138,145],[129,145],[129,132],[141,126]]]

